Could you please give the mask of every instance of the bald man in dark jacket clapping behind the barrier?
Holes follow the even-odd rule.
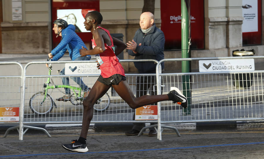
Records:
[[[131,41],[126,43],[128,54],[135,56],[135,59],[164,59],[164,33],[156,27],[154,23],[154,15],[151,12],[144,12],[140,16],[140,28],[136,31]],[[156,64],[154,62],[134,62],[139,73],[156,73]],[[164,62],[161,64],[164,70]],[[156,84],[155,76],[138,76],[136,80],[136,97],[146,95],[149,90],[150,95],[157,95],[153,92],[153,85]],[[156,105],[157,103],[153,103]],[[155,124],[155,123],[152,123]],[[131,131],[126,135],[138,135],[139,131],[145,126],[145,123],[135,123]],[[149,136],[157,136],[157,131],[150,128]]]

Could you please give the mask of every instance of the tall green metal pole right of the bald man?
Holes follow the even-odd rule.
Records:
[[[182,24],[182,58],[189,58],[188,54],[188,38],[189,38],[189,16],[188,16],[188,10],[187,6],[185,4],[185,0],[181,0],[181,24]],[[189,61],[182,61],[182,72],[190,72],[189,68]],[[190,76],[182,76],[182,90],[183,90],[183,95],[188,100],[188,108],[183,109],[183,112],[187,112],[187,114],[191,113],[191,108],[189,105],[191,104],[191,92],[190,92]]]

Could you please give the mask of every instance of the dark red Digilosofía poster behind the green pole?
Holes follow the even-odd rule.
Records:
[[[190,1],[192,49],[204,49],[204,0]],[[181,0],[160,1],[164,49],[181,49]]]

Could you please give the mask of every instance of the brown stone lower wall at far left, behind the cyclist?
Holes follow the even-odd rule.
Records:
[[[5,54],[44,54],[50,52],[48,22],[1,23],[2,52]]]

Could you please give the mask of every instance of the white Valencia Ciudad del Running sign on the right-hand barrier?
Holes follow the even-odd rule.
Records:
[[[254,71],[254,59],[200,60],[199,72]]]

